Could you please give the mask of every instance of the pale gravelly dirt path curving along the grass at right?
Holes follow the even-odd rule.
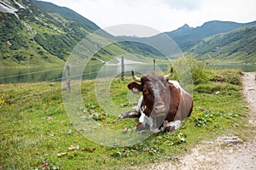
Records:
[[[250,109],[250,126],[256,125],[255,78],[256,73],[248,72],[242,76],[243,93]],[[188,156],[180,157],[177,163],[154,164],[151,169],[256,169],[256,132],[250,133],[252,135],[246,142],[232,135],[203,142]]]

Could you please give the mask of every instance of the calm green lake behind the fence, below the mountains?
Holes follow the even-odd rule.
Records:
[[[104,76],[120,74],[119,64],[98,64],[71,66],[72,77],[77,79],[83,74],[83,79],[94,79],[98,76],[98,71],[104,72]],[[102,67],[103,66],[103,67]],[[167,65],[157,65],[160,71],[167,71]],[[256,64],[225,64],[209,65],[212,69],[240,69],[241,71],[256,71]],[[81,72],[83,70],[83,72]],[[143,65],[143,63],[125,60],[125,76],[131,75],[131,70],[146,73],[153,71],[153,65]],[[0,68],[0,83],[22,83],[22,82],[60,82],[64,67],[59,68]]]

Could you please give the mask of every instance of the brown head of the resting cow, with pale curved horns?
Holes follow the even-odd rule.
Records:
[[[143,112],[153,119],[155,128],[160,127],[170,107],[171,95],[168,81],[172,76],[172,69],[166,76],[151,73],[144,77],[137,77],[133,71],[131,75],[135,82],[129,83],[128,88],[134,93],[143,92],[143,106],[145,106]]]

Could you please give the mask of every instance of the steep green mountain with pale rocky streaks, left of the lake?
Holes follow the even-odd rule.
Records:
[[[36,0],[1,0],[0,23],[0,66],[3,67],[64,65],[73,48],[100,29],[69,8]],[[102,37],[114,38],[100,31],[96,41],[102,42]],[[107,61],[130,52],[153,56],[136,45],[113,43],[99,50],[91,62]]]

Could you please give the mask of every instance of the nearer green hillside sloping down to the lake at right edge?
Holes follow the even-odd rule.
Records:
[[[256,26],[207,37],[189,50],[196,59],[256,63]]]

